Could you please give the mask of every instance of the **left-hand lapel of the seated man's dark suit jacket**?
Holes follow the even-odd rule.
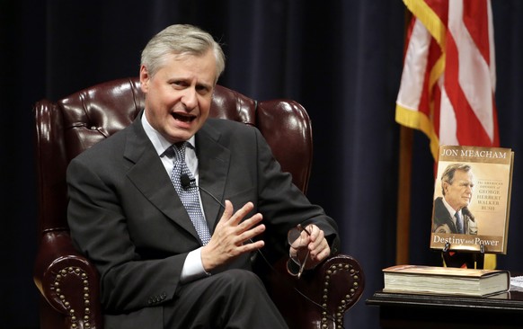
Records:
[[[199,239],[191,218],[185,211],[182,201],[174,190],[169,175],[158,157],[141,124],[138,115],[130,129],[127,129],[124,157],[132,165],[129,167],[129,180],[165,216]]]

